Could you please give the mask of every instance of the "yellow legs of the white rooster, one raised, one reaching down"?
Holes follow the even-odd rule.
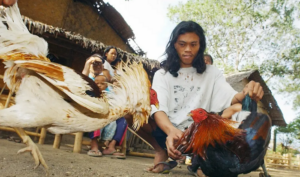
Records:
[[[8,104],[10,102],[11,96],[14,93],[14,91],[15,91],[15,87],[13,87],[13,89],[10,90],[4,108],[8,107]],[[34,161],[35,161],[35,165],[36,165],[34,167],[34,169],[36,169],[40,164],[42,164],[48,174],[49,168],[48,168],[39,148],[37,147],[37,145],[32,141],[32,139],[28,135],[26,135],[24,129],[22,129],[22,128],[14,128],[14,129],[15,129],[16,133],[22,138],[23,142],[27,145],[26,148],[20,149],[18,151],[18,154],[22,153],[22,152],[28,152],[28,151],[31,152],[31,154],[34,158]]]

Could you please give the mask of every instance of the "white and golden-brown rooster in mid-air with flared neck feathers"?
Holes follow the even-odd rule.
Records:
[[[74,70],[51,63],[46,57],[44,39],[32,35],[24,25],[17,3],[9,8],[0,6],[0,59],[6,71],[4,82],[10,94],[16,93],[15,105],[0,110],[0,125],[15,127],[31,151],[36,167],[48,169],[37,146],[22,128],[45,126],[54,134],[90,132],[101,129],[126,114],[133,115],[133,127],[148,122],[150,104],[158,105],[151,96],[150,81],[141,63],[122,63],[115,77],[118,86],[90,97],[88,82]],[[155,91],[151,90],[151,95]]]

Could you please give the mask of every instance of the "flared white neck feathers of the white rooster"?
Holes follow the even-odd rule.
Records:
[[[117,73],[118,86],[113,86],[113,91],[107,93],[109,105],[119,116],[132,114],[133,126],[139,129],[148,122],[151,111],[148,75],[142,63],[137,62],[120,63]]]

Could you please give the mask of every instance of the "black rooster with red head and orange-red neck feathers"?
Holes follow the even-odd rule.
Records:
[[[182,153],[197,154],[202,172],[209,177],[237,177],[264,166],[270,141],[270,118],[257,113],[257,104],[247,95],[243,111],[251,113],[236,129],[237,122],[198,108],[191,111],[194,123],[176,144]],[[193,164],[194,165],[194,164]]]

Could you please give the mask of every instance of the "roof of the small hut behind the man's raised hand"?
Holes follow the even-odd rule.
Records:
[[[265,81],[262,79],[261,75],[257,70],[240,72],[226,77],[227,82],[237,91],[242,91],[243,85],[238,84],[243,79],[248,79],[249,81],[253,80],[259,82],[263,87],[264,96],[261,102],[265,106],[265,109],[268,111],[273,125],[286,126],[283,114],[280,107],[277,104],[274,96],[272,95],[271,90],[266,85]]]

